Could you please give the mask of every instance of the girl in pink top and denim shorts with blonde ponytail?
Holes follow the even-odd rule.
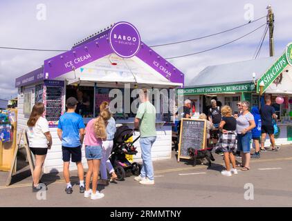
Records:
[[[104,197],[103,193],[97,191],[98,172],[100,170],[100,159],[102,159],[102,140],[107,140],[107,121],[111,118],[109,111],[102,111],[100,116],[91,119],[85,128],[85,157],[88,164],[86,174],[86,185],[84,197],[97,200]],[[92,176],[92,190],[89,188]]]

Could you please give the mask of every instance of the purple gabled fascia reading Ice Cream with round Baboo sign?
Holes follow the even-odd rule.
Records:
[[[82,43],[71,50],[44,61],[44,70],[39,68],[16,81],[16,86],[33,84],[41,79],[55,79],[86,64],[115,52],[120,57],[136,56],[145,64],[154,68],[170,82],[184,83],[184,75],[168,61],[158,55],[152,48],[140,41],[136,28],[127,22],[116,23],[102,37]],[[114,79],[113,79],[114,81]]]

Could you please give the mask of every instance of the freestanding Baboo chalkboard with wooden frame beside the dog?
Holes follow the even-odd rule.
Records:
[[[181,119],[178,161],[190,159],[188,148],[201,150],[206,144],[206,119]]]

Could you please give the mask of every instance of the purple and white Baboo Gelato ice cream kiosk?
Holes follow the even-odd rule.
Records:
[[[127,22],[113,24],[95,35],[78,42],[73,48],[50,59],[41,68],[18,77],[15,86],[18,93],[18,130],[26,128],[26,122],[35,102],[44,102],[45,117],[53,135],[53,146],[48,151],[44,172],[62,171],[62,148],[57,137],[57,123],[66,111],[68,97],[80,101],[77,113],[84,122],[97,116],[103,101],[116,100],[117,124],[133,127],[134,117],[129,105],[135,88],[156,88],[170,93],[171,88],[182,88],[184,75],[140,39],[138,30]],[[119,98],[117,98],[117,96]],[[122,99],[120,98],[122,97]],[[160,99],[161,108],[172,99]],[[173,103],[173,102],[172,102]],[[157,108],[156,108],[157,109]],[[163,114],[164,113],[164,114]],[[152,149],[153,160],[168,159],[172,152],[172,122],[170,113],[157,114],[157,140]],[[134,135],[134,138],[138,133]],[[140,146],[136,142],[140,160]],[[84,148],[82,148],[84,156]],[[86,160],[82,162],[86,167]],[[71,164],[71,169],[76,169]]]

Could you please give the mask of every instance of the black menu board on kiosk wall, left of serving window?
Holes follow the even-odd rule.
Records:
[[[50,127],[56,127],[64,113],[64,81],[45,82],[46,119]]]

